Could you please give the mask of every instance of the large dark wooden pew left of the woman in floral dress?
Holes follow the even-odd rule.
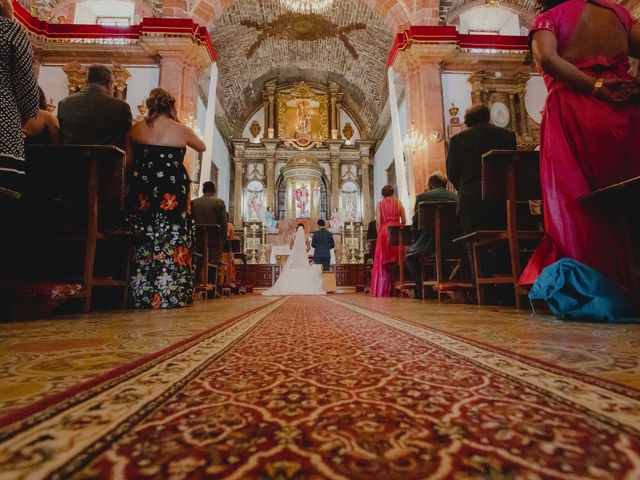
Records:
[[[118,228],[125,194],[124,152],[102,145],[32,145],[26,159],[22,238],[36,260],[32,279],[53,275],[80,283],[76,298],[83,298],[83,312],[90,310],[96,287],[117,287],[124,307],[132,240],[130,232]],[[114,248],[121,250],[118,257]],[[70,261],[52,267],[60,253],[71,258],[82,250],[81,266]],[[104,261],[97,264],[100,258]]]

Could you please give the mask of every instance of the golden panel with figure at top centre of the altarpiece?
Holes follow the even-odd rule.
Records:
[[[278,136],[282,140],[306,138],[309,141],[329,137],[329,95],[315,93],[305,82],[296,85],[291,93],[277,93]],[[304,122],[309,122],[309,132]]]

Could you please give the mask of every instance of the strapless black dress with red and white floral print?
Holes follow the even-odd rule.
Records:
[[[127,221],[138,241],[131,294],[136,308],[182,307],[193,301],[191,181],[186,149],[135,145],[128,184]]]

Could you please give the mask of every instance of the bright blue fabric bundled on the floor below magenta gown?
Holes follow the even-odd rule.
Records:
[[[599,271],[563,258],[540,273],[530,300],[544,300],[563,319],[610,323],[640,322],[620,288]]]

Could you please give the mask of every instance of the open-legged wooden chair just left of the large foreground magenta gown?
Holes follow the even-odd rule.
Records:
[[[540,230],[523,230],[519,227],[518,202],[541,198],[539,152],[524,150],[492,150],[482,157],[482,199],[506,202],[507,225],[505,230],[478,230],[454,241],[471,242],[478,303],[484,305],[486,285],[510,284],[514,289],[516,307],[520,308],[521,296],[529,287],[520,285],[522,271],[520,246],[523,241],[535,244],[544,236]],[[480,255],[482,249],[506,242],[511,271],[504,275],[485,275]]]

